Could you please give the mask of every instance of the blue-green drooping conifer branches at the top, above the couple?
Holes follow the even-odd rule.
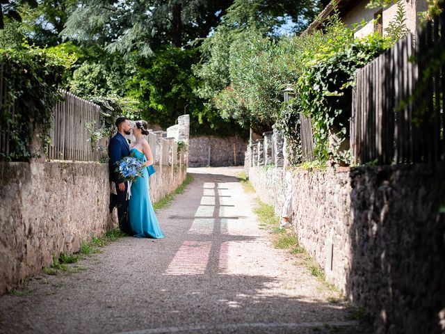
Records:
[[[81,0],[67,21],[65,38],[95,40],[112,51],[151,54],[205,38],[230,0]]]

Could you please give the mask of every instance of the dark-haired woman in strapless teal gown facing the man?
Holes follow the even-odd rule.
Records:
[[[163,238],[164,234],[159,227],[152,200],[150,200],[147,167],[153,164],[153,155],[144,138],[147,134],[149,134],[147,122],[138,120],[133,127],[133,136],[136,137],[136,141],[131,144],[130,153],[144,161],[144,168],[143,177],[138,177],[131,182],[131,196],[128,203],[129,224],[134,237],[159,239]]]

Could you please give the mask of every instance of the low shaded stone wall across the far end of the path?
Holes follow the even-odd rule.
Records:
[[[218,136],[191,137],[188,146],[188,166],[242,166],[246,148],[247,144],[238,136],[226,138]]]

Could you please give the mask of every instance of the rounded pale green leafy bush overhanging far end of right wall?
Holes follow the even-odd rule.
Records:
[[[215,45],[223,44],[217,38],[224,41],[225,36],[214,38]],[[204,86],[207,90],[198,93],[203,97],[213,94],[213,106],[223,118],[236,120],[239,125],[250,126],[258,133],[268,131],[280,113],[282,90],[295,75],[289,67],[289,57],[284,56],[289,55],[292,48],[289,43],[277,43],[253,28],[232,33],[231,40],[229,49],[227,45],[226,50],[214,47],[211,61],[197,72],[204,82],[209,82],[209,72],[226,58],[223,67],[227,65],[230,84],[223,87],[227,79],[220,75],[220,84],[210,81]],[[225,57],[227,51],[229,56]]]

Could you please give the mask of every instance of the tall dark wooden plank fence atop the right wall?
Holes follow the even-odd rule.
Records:
[[[350,124],[356,164],[444,160],[444,15],[357,72]]]

